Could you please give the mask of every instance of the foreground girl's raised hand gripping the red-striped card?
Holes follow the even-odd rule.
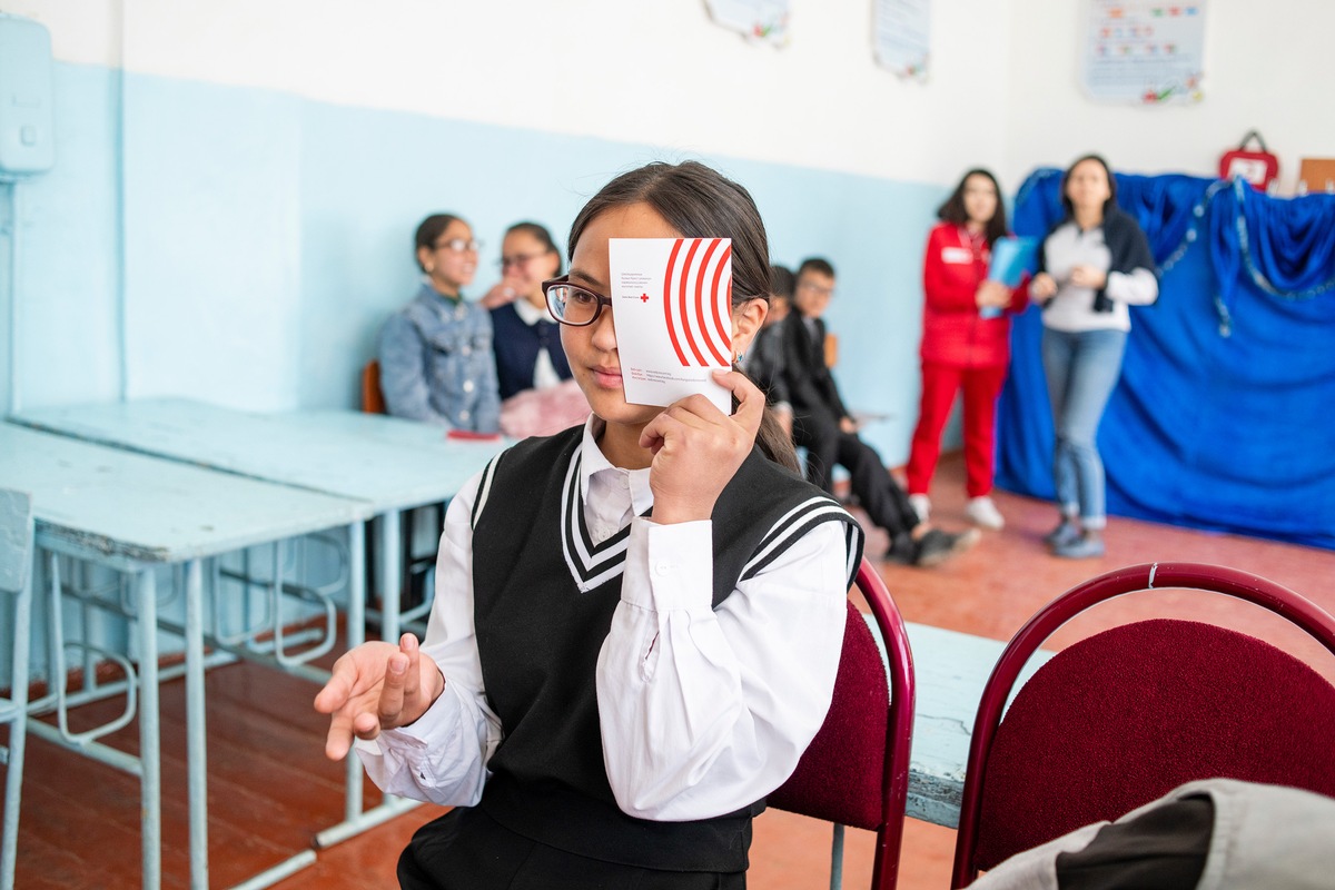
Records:
[[[709,519],[714,502],[756,444],[765,395],[737,371],[716,371],[714,380],[737,396],[728,416],[702,395],[680,399],[650,420],[639,447],[654,452],[649,487],[654,522]]]

